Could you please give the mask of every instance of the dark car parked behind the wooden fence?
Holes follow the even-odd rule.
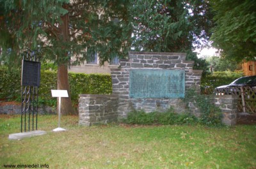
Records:
[[[216,93],[222,94],[232,94],[234,92],[239,92],[240,87],[252,87],[253,89],[256,88],[256,76],[248,76],[248,77],[241,77],[237,78],[234,82],[229,85],[221,85],[215,88]]]

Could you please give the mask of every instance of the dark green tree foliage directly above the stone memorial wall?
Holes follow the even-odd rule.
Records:
[[[156,52],[187,52],[205,45],[212,13],[204,0],[134,1],[132,48]]]

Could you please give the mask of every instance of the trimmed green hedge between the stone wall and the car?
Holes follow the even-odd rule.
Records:
[[[201,91],[204,94],[211,94],[215,87],[228,85],[239,77],[243,77],[243,72],[216,71],[201,78]]]

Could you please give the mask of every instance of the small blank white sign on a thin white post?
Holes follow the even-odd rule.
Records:
[[[61,107],[61,98],[68,98],[67,90],[51,90],[52,97],[59,98],[59,108],[58,108],[58,128],[53,129],[52,131],[66,131],[60,127],[60,107]]]

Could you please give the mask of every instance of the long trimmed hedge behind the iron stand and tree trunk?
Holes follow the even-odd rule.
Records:
[[[68,73],[70,95],[73,103],[78,102],[79,94],[111,94],[110,75]],[[51,89],[57,88],[56,71],[41,71],[38,102],[43,105],[55,105]],[[9,101],[20,100],[20,71],[8,71],[0,68],[0,98]]]

